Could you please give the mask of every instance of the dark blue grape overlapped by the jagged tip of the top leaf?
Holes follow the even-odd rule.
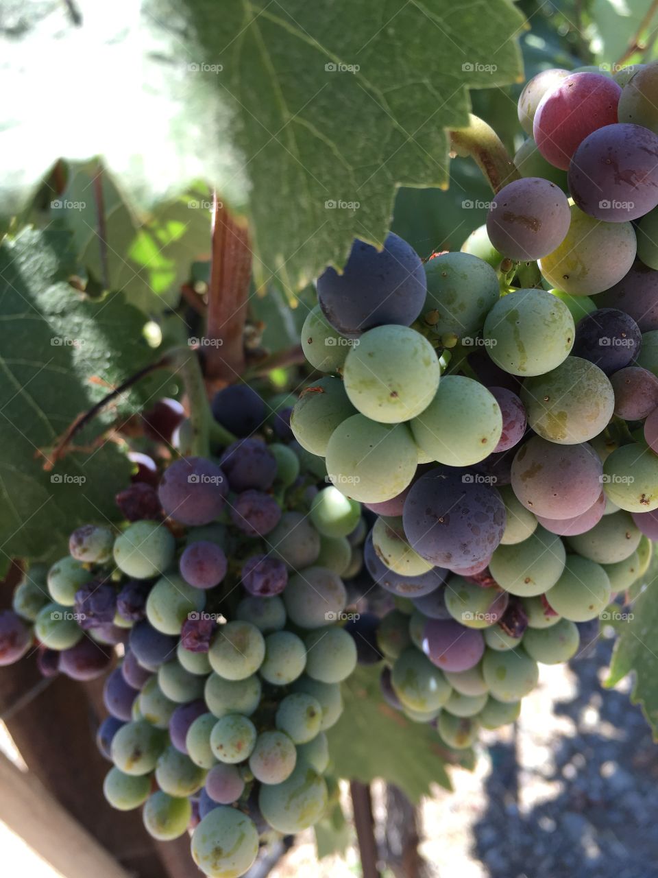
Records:
[[[319,306],[333,328],[348,338],[388,323],[410,326],[425,294],[423,263],[392,232],[381,251],[356,239],[343,273],[328,268],[318,277]]]

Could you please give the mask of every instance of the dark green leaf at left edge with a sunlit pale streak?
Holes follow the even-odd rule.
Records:
[[[117,518],[129,464],[115,443],[94,440],[139,406],[139,389],[75,436],[80,451],[44,464],[79,414],[153,356],[144,316],[122,294],[92,301],[67,283],[71,244],[54,229],[0,244],[0,546],[12,557],[53,558],[79,524]]]

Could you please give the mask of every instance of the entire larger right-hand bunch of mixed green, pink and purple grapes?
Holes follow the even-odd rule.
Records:
[[[619,82],[618,82],[619,80]],[[449,747],[585,654],[658,538],[658,64],[544,71],[519,179],[459,252],[354,241],[318,278],[297,442],[374,525],[355,621]],[[619,601],[621,597],[619,598]]]

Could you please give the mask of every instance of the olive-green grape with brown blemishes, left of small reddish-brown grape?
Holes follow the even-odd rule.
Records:
[[[612,418],[614,391],[598,366],[569,356],[557,369],[528,378],[521,388],[528,424],[561,445],[588,442]]]

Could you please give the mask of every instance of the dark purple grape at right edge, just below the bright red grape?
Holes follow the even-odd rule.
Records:
[[[658,205],[656,160],[658,135],[648,128],[626,122],[598,128],[569,165],[571,197],[596,219],[640,219]]]

